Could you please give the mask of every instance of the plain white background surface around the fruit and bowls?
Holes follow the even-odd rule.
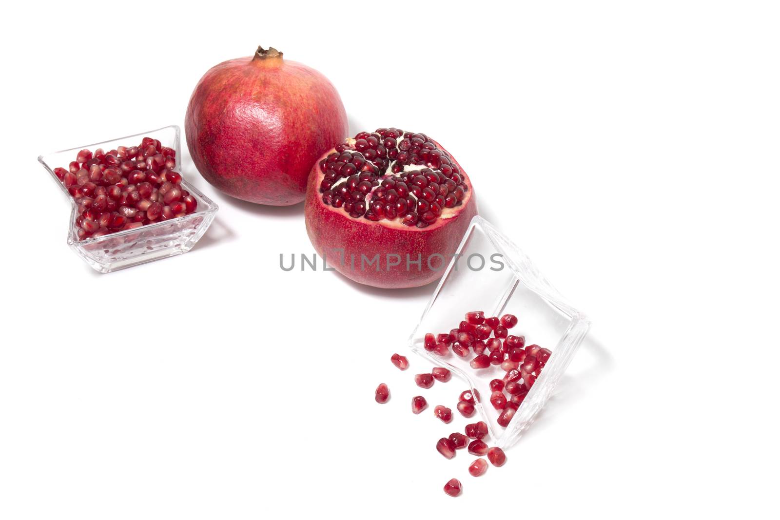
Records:
[[[277,3],[5,12],[0,518],[776,515],[776,3]],[[313,251],[300,206],[185,157],[221,207],[193,251],[99,275],[66,246],[37,155],[183,126],[257,44],[328,76],[352,133],[443,143],[593,320],[503,468],[438,455],[466,421],[413,416],[427,367],[389,363],[433,286],[281,271]]]

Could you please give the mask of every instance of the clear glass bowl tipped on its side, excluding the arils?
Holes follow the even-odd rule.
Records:
[[[501,366],[475,370],[469,364],[475,357],[473,351],[462,358],[452,352],[452,348],[445,356],[427,352],[424,348],[426,333],[449,333],[465,320],[467,312],[474,310],[484,311],[485,317],[514,314],[518,323],[509,329],[509,334],[524,336],[526,345],[536,344],[552,351],[505,428],[498,424],[499,412],[490,403],[489,382],[504,377]],[[589,327],[587,317],[558,294],[517,246],[477,216],[472,219],[456,256],[446,267],[412,333],[410,348],[431,363],[449,368],[466,380],[472,391],[479,393],[480,400],[475,408],[480,417],[473,416],[473,421],[488,423],[495,444],[508,447],[533,423],[550,398]],[[489,352],[486,350],[485,353]]]

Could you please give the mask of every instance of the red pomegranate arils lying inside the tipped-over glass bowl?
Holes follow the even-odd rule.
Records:
[[[551,351],[539,345],[526,345],[523,336],[509,334],[517,324],[517,317],[505,314],[501,318],[485,317],[475,310],[466,313],[458,327],[449,333],[425,334],[423,346],[428,352],[446,356],[450,351],[469,359],[473,370],[501,366],[501,379],[490,382],[490,403],[498,411],[499,426],[506,427],[523,403],[530,387],[550,359]],[[478,398],[478,397],[477,397]],[[474,413],[474,398],[463,392],[456,409],[465,417]]]

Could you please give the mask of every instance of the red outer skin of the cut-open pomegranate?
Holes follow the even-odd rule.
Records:
[[[435,141],[434,143],[438,148],[446,151],[441,144]],[[328,157],[332,151],[334,150],[328,150],[320,158]],[[463,173],[464,182],[469,186],[463,206],[459,207],[459,211],[451,218],[439,218],[427,228],[416,228],[403,225],[400,221],[393,221],[392,227],[388,227],[390,221],[374,222],[366,218],[352,218],[342,210],[326,206],[322,203],[319,190],[323,172],[319,165],[320,161],[317,160],[309,176],[306,203],[303,207],[306,231],[317,254],[321,257],[327,256],[328,268],[332,267],[347,278],[372,287],[419,287],[441,278],[463,235],[466,234],[471,219],[477,215],[477,200],[470,179],[463,166],[458,164],[454,157],[452,161]],[[343,264],[339,257],[341,253],[337,249],[344,249]],[[380,258],[379,271],[376,271],[373,264],[361,270],[360,255],[372,259],[377,253]],[[388,269],[387,253],[399,254],[401,264]],[[411,264],[410,270],[406,270],[407,253],[412,260],[417,260],[417,255],[422,254],[420,271],[417,270],[416,264]],[[434,253],[445,256],[443,264],[441,258],[431,258],[432,267],[438,270],[427,267],[426,259]],[[351,255],[355,255],[355,269],[351,267]]]

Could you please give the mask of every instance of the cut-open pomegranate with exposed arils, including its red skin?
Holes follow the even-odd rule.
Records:
[[[347,278],[381,288],[444,274],[471,218],[471,182],[424,133],[361,132],[325,153],[304,206],[314,249]]]

